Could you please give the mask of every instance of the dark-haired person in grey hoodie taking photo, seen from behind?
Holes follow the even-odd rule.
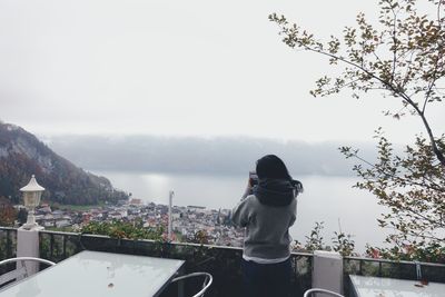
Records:
[[[287,297],[290,293],[289,227],[296,220],[296,196],[301,182],[293,180],[275,155],[260,158],[258,179],[249,178],[231,219],[245,228],[243,278],[246,297]]]

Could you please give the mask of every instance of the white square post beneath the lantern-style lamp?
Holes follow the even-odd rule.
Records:
[[[39,231],[44,228],[34,226],[30,229],[20,227],[17,230],[17,257],[34,257],[40,258],[39,248]],[[39,271],[39,264],[28,261],[24,264],[28,275],[33,275]],[[17,263],[17,268],[21,267],[21,263]]]

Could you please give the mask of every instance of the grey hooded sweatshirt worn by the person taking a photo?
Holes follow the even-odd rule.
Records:
[[[281,199],[283,192],[254,188],[254,195],[245,195],[234,208],[234,224],[246,228],[244,255],[261,259],[285,258],[290,255],[291,237],[288,229],[294,225],[297,212],[297,200],[294,191],[291,192],[291,197],[287,195],[284,205],[277,206],[270,205],[270,201]]]

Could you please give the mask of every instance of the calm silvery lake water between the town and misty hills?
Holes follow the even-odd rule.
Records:
[[[175,190],[174,205],[231,209],[241,197],[246,176],[171,175],[152,172],[93,171],[110,179],[116,188],[131,192],[146,202],[168,204],[169,190]],[[326,242],[334,231],[353,235],[358,251],[366,244],[383,246],[386,231],[376,218],[385,211],[367,191],[352,188],[353,177],[294,176],[305,191],[298,196],[297,221],[291,227],[294,239],[305,242],[315,222],[324,221]]]

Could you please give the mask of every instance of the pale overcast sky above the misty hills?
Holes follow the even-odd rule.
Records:
[[[393,99],[309,96],[330,71],[280,42],[278,12],[319,34],[376,18],[377,0],[0,0],[0,119],[38,135],[253,136],[395,141],[418,119]],[[388,105],[389,103],[389,105]],[[385,105],[385,107],[383,106]],[[444,132],[444,109],[432,110]]]

